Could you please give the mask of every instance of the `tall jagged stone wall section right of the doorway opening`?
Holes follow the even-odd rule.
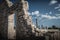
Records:
[[[27,12],[27,3],[24,0],[20,1],[20,4],[18,6],[18,9],[16,11],[16,37],[17,39],[19,38],[24,38],[24,37],[29,37],[32,28],[31,25],[28,24],[28,12]]]

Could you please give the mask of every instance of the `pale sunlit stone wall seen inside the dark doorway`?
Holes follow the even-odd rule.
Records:
[[[14,39],[15,36],[14,14],[11,14],[8,16],[8,39]]]

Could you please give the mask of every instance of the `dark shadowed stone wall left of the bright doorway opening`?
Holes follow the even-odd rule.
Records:
[[[3,0],[0,5],[0,39],[5,40],[7,39],[8,33],[8,6],[6,1]]]

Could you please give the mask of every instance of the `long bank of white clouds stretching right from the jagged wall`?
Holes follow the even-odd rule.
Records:
[[[32,16],[36,15],[35,18],[37,18],[37,16],[39,15],[39,19],[60,19],[60,16],[57,16],[58,14],[56,14],[55,16],[51,16],[50,14],[52,14],[52,12],[50,11],[49,13],[45,13],[45,14],[40,14],[39,11],[34,11],[32,12]]]

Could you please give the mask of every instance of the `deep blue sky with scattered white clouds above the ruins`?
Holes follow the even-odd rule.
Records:
[[[0,0],[0,4],[3,0]],[[13,3],[19,0],[10,0]],[[32,21],[35,24],[38,18],[38,24],[44,26],[56,25],[60,27],[60,0],[27,0],[29,3],[29,13],[32,15]]]

